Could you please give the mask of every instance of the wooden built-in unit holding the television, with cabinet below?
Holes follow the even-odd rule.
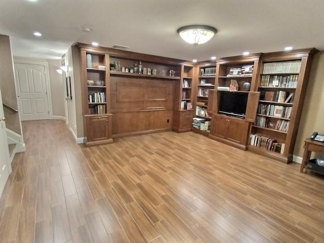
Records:
[[[253,87],[256,86],[260,56],[259,53],[217,60],[215,90],[211,91],[213,104],[209,104],[208,108],[212,116],[210,138],[247,149],[249,128],[255,120],[259,100],[259,93],[254,92]],[[227,100],[233,97],[230,102],[237,107],[246,102],[246,107],[241,106],[240,110],[244,110],[240,113],[231,113],[230,109],[221,110],[224,97],[228,97]]]

